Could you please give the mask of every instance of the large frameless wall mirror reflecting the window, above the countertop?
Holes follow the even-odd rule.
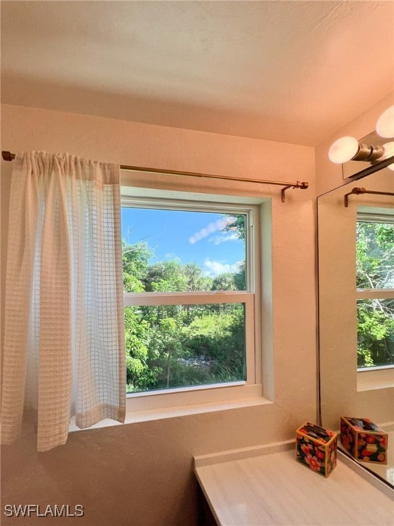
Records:
[[[394,197],[381,192],[394,194],[389,168],[317,198],[320,414],[337,432],[341,416],[382,427],[387,464],[360,464],[394,488]]]

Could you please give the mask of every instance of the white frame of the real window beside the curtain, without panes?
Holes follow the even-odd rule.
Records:
[[[124,188],[122,188],[124,190]],[[135,189],[133,189],[135,190]],[[232,400],[259,399],[259,403],[270,403],[262,397],[261,385],[261,242],[259,205],[239,203],[225,196],[204,196],[204,199],[187,199],[186,192],[162,191],[162,197],[152,197],[155,192],[137,189],[137,197],[124,195],[121,205],[140,208],[164,208],[218,212],[223,214],[246,214],[248,236],[246,236],[246,290],[215,292],[124,292],[127,305],[197,305],[202,303],[244,303],[246,321],[246,380],[225,384],[150,390],[127,394],[127,412],[155,412],[185,406],[215,405]],[[156,194],[157,195],[157,194]],[[179,199],[179,195],[182,196]],[[167,197],[168,196],[168,197]],[[176,196],[176,198],[174,198]],[[196,197],[196,196],[193,196]],[[214,200],[215,199],[215,200]]]

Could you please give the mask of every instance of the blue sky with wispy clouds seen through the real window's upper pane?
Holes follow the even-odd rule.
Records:
[[[211,212],[122,208],[122,238],[148,243],[155,250],[150,263],[179,258],[197,263],[205,275],[236,272],[245,258],[244,241],[222,233],[225,218]]]

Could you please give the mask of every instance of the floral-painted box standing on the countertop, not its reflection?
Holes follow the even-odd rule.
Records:
[[[296,431],[297,460],[328,477],[337,465],[337,434],[324,427],[304,423]]]

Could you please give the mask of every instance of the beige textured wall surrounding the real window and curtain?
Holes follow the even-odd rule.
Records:
[[[310,183],[308,190],[288,190],[285,204],[276,186],[257,190],[164,176],[155,183],[167,188],[166,181],[176,180],[183,190],[272,197],[273,403],[76,432],[48,453],[36,453],[27,427],[18,443],[3,448],[3,504],[79,503],[85,518],[69,520],[88,526],[195,525],[193,455],[287,440],[300,423],[317,418],[314,150],[10,105],[3,106],[1,120],[2,149],[12,152],[68,151],[121,164]],[[2,260],[11,169],[12,163],[1,163]],[[42,520],[31,518],[29,525]],[[14,523],[3,517],[2,524]]]

